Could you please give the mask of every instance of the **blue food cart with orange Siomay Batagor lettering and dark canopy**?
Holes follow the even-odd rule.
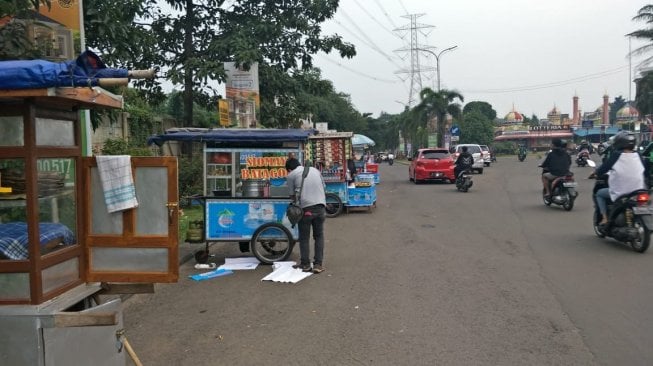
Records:
[[[314,130],[171,129],[150,143],[203,144],[204,263],[213,242],[239,243],[262,263],[286,260],[299,238],[286,217],[290,203],[285,163],[290,155],[304,160]]]

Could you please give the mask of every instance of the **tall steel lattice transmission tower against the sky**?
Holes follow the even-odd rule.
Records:
[[[410,31],[410,47],[395,51],[410,53],[410,69],[402,69],[396,72],[396,74],[409,74],[408,77],[410,78],[410,91],[408,94],[408,107],[412,107],[413,104],[415,104],[419,93],[422,91],[422,72],[435,71],[435,68],[433,67],[420,66],[419,62],[420,52],[434,48],[431,46],[421,45],[419,43],[419,34],[421,33],[423,36],[426,36],[426,33],[424,33],[423,29],[434,28],[432,25],[417,23],[417,18],[423,15],[423,13],[402,15],[403,18],[410,19],[410,24],[395,29],[395,31],[398,32]]]

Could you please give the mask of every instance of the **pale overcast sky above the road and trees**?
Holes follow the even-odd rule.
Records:
[[[626,34],[646,28],[633,21],[647,5],[640,0],[341,0],[324,34],[338,34],[356,46],[353,59],[337,53],[315,56],[322,77],[349,94],[361,113],[400,113],[410,88],[410,28],[407,14],[421,14],[420,48],[441,51],[440,85],[463,95],[464,103],[485,101],[499,118],[514,110],[546,118],[554,106],[572,114],[597,109],[603,95],[635,98],[642,46]],[[436,59],[420,52],[422,87],[437,90]],[[415,80],[413,78],[413,80]],[[415,88],[418,89],[418,88]],[[419,95],[414,99],[419,102]],[[413,106],[415,103],[413,104]]]

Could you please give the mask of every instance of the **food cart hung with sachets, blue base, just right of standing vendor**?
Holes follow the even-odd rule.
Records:
[[[336,217],[343,209],[376,205],[374,177],[365,169],[347,180],[347,160],[354,159],[351,132],[320,133],[309,137],[306,159],[322,172],[326,188],[327,216]]]

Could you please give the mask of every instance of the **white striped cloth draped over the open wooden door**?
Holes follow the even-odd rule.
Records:
[[[96,156],[109,213],[138,207],[129,155]]]

